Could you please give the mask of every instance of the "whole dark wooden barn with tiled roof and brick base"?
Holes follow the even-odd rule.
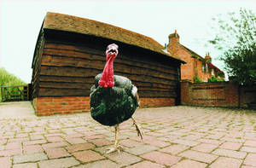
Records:
[[[184,62],[160,43],[96,20],[47,13],[32,61],[32,104],[37,115],[90,111],[90,87],[104,68],[109,43],[119,45],[114,74],[137,85],[142,107],[179,102]]]

